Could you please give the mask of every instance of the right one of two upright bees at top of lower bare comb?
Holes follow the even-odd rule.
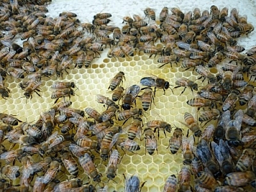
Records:
[[[168,146],[170,147],[170,151],[172,152],[172,154],[176,154],[178,152],[181,146],[182,136],[183,136],[182,129],[180,129],[179,127],[174,129],[172,137],[169,140],[169,146]]]

